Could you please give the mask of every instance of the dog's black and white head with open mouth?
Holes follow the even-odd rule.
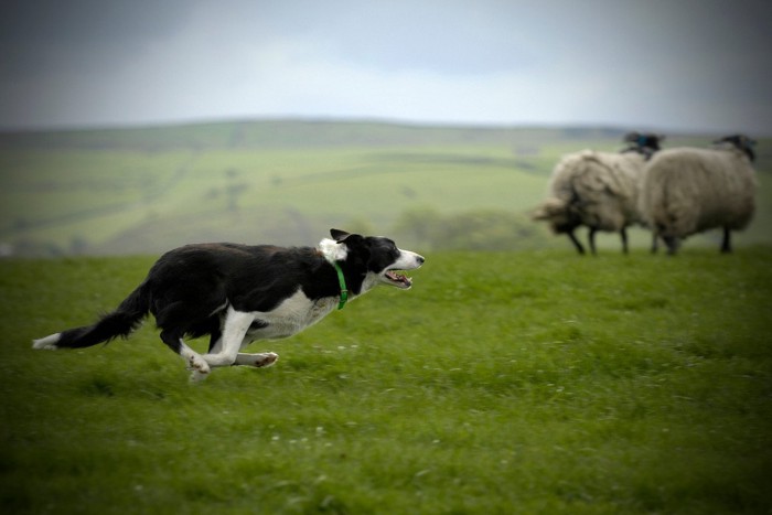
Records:
[[[412,280],[404,272],[423,265],[423,256],[403,250],[389,238],[362,236],[345,230],[330,229],[333,239],[324,239],[320,250],[332,261],[344,261],[350,275],[362,280],[356,293],[364,293],[377,285],[389,285],[403,290],[412,286]]]

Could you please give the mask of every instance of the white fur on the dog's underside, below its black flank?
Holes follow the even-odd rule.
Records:
[[[336,305],[337,299],[334,297],[314,301],[298,288],[292,297],[286,299],[275,310],[251,313],[255,315],[255,323],[247,331],[247,337],[272,340],[291,336],[322,320]]]

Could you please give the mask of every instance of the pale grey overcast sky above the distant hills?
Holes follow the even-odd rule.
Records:
[[[3,0],[0,128],[228,118],[772,135],[770,0]]]

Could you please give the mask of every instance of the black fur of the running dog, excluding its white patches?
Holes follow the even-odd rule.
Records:
[[[350,294],[361,292],[367,271],[379,272],[399,255],[394,242],[333,229],[347,247],[339,261]],[[298,288],[311,300],[339,297],[335,268],[312,247],[196,244],[171,250],[156,261],[144,281],[111,313],[90,326],[66,330],[57,347],[79,348],[128,336],[152,313],[161,340],[180,352],[184,336],[211,336],[210,350],[221,337],[222,313],[271,311]],[[267,326],[255,320],[251,329]]]

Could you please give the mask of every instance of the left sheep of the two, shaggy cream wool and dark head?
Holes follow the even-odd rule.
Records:
[[[590,250],[596,253],[598,230],[619,232],[628,254],[628,226],[641,222],[637,212],[640,174],[644,163],[660,150],[661,135],[630,132],[620,153],[582,150],[565,155],[553,171],[549,197],[532,218],[547,221],[556,234],[566,233],[580,255],[585,247],[573,230],[589,227]]]

